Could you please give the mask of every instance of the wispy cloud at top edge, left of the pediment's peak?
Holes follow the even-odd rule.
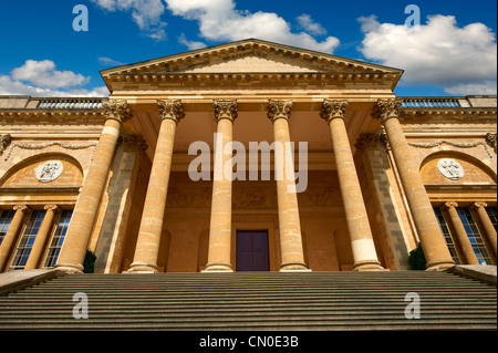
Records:
[[[132,18],[142,31],[155,41],[166,39],[164,28],[166,22],[162,21],[165,13],[163,0],[92,0],[97,7],[114,11],[131,11]]]

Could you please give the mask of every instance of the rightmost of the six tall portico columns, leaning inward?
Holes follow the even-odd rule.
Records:
[[[387,134],[415,228],[427,260],[427,270],[445,270],[453,267],[455,262],[425,190],[418,164],[411,156],[412,152],[400,123],[401,104],[400,101],[395,100],[380,100],[375,107],[374,117],[381,120]]]

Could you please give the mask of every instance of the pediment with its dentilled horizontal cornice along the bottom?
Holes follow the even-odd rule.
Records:
[[[258,65],[259,62],[266,64]],[[196,81],[224,80],[230,85],[232,81],[255,84],[269,77],[279,84],[313,79],[359,79],[360,82],[381,79],[394,89],[403,70],[261,40],[245,40],[108,69],[101,74],[111,91],[117,82],[178,84],[181,81],[195,85]]]

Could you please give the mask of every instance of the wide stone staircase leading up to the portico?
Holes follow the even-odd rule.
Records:
[[[446,272],[66,274],[0,297],[0,330],[496,329],[496,285]]]

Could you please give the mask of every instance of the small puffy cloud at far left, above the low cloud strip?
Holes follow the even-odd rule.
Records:
[[[90,77],[71,71],[56,71],[55,63],[50,60],[28,60],[24,65],[12,71],[12,79],[27,81],[44,89],[64,89],[90,81]]]

